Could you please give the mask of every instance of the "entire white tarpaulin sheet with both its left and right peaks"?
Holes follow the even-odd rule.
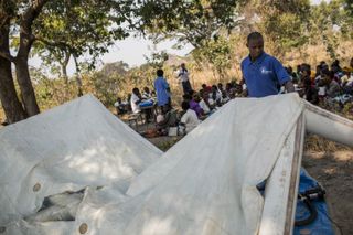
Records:
[[[152,163],[158,150],[86,99],[98,108],[87,110],[78,99],[52,110],[64,114],[45,113],[0,132],[8,232],[47,233],[45,223],[14,218],[33,213],[46,195],[89,185],[67,222],[72,234],[256,234],[264,204],[256,185],[270,174],[303,110],[295,94],[231,100]],[[43,185],[34,193],[38,182]],[[56,223],[64,234],[65,222]]]

